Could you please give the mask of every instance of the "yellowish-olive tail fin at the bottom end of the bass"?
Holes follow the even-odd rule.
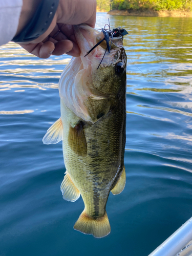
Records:
[[[84,234],[93,234],[95,238],[103,238],[111,232],[106,211],[103,217],[93,219],[86,214],[85,210],[83,210],[82,214],[79,216],[79,219],[74,225],[74,229]]]

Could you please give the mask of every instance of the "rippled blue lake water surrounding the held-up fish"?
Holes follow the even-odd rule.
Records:
[[[123,27],[127,52],[126,186],[109,197],[108,237],[73,229],[80,198],[62,199],[62,144],[44,145],[60,117],[70,56],[0,49],[0,255],[147,256],[192,216],[192,18],[97,13]]]

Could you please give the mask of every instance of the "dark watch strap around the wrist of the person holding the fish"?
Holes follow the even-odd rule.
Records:
[[[55,12],[57,10],[59,0],[42,0],[38,5],[30,23],[11,41],[27,42],[32,41],[46,32],[49,28]]]

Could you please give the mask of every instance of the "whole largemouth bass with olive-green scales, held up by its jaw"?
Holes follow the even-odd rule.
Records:
[[[74,31],[81,55],[61,74],[61,117],[43,141],[62,140],[63,198],[74,202],[82,196],[84,210],[74,229],[101,238],[111,231],[105,211],[110,191],[121,193],[126,179],[126,54],[119,36],[110,41],[111,51],[103,59],[105,41],[85,57],[103,34],[87,25],[74,26]]]

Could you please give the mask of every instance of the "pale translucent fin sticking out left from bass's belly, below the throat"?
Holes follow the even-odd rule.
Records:
[[[62,140],[62,121],[59,118],[51,127],[47,130],[46,135],[42,139],[44,144],[56,144]]]

